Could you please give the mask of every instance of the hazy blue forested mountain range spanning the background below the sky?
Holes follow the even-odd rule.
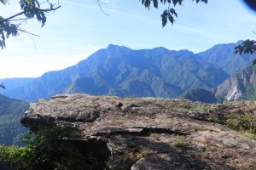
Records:
[[[8,88],[4,95],[29,102],[74,93],[177,98],[189,89],[216,88],[250,65],[253,55],[234,53],[238,43],[218,44],[198,54],[111,44],[67,69],[0,81]]]

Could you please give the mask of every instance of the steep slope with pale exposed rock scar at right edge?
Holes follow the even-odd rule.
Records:
[[[255,68],[249,66],[216,88],[216,96],[228,100],[256,99]]]

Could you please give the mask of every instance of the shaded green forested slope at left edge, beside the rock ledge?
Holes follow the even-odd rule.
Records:
[[[0,95],[0,144],[21,144],[27,129],[21,126],[20,118],[28,107],[28,103]]]

